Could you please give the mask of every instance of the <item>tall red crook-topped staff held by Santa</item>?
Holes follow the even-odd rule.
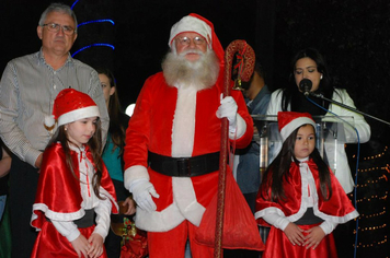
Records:
[[[238,52],[239,77],[248,82],[253,73],[255,55],[253,48],[245,40],[234,40],[229,44],[225,50],[225,89],[223,96],[230,96],[231,86],[231,69],[234,54]],[[225,188],[226,188],[226,168],[228,162],[228,138],[229,138],[229,121],[225,117],[221,121],[220,137],[220,157],[219,157],[219,177],[218,177],[218,197],[217,197],[217,218],[216,218],[216,234],[214,257],[222,257],[222,232],[223,232],[223,210],[225,210]]]

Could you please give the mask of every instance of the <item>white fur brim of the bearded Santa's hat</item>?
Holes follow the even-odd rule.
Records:
[[[204,21],[194,16],[184,16],[179,22],[176,22],[171,28],[170,39],[168,46],[172,46],[173,39],[181,33],[184,32],[195,32],[203,36],[207,44],[211,44],[211,27],[207,25]]]

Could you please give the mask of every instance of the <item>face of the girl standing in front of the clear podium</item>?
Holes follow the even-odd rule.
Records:
[[[316,148],[316,133],[311,125],[299,128],[295,140],[294,154],[298,160],[308,157]]]

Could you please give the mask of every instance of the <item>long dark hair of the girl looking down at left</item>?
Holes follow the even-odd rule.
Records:
[[[65,125],[59,126],[57,128],[57,131],[51,137],[47,146],[49,146],[56,142],[59,142],[64,149],[65,160],[66,160],[65,162],[66,162],[68,168],[73,174],[74,178],[79,179],[74,174],[74,164],[73,164],[71,155],[70,155],[71,150],[69,149],[69,144],[72,144],[74,146],[77,146],[77,145],[68,140],[67,131],[65,130]],[[101,155],[102,155],[102,128],[101,128],[100,118],[97,118],[97,120],[95,122],[95,133],[93,133],[92,138],[88,141],[87,145],[89,146],[89,149],[92,153],[92,161],[94,164],[94,168],[96,171],[92,178],[93,192],[96,195],[96,197],[99,199],[103,199],[99,194],[100,192],[99,191],[100,183],[102,179],[102,169],[103,169],[102,159],[101,159]]]

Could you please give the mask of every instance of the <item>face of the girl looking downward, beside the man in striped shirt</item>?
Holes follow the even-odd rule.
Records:
[[[81,146],[87,143],[96,130],[97,117],[89,117],[65,125],[68,140]]]

